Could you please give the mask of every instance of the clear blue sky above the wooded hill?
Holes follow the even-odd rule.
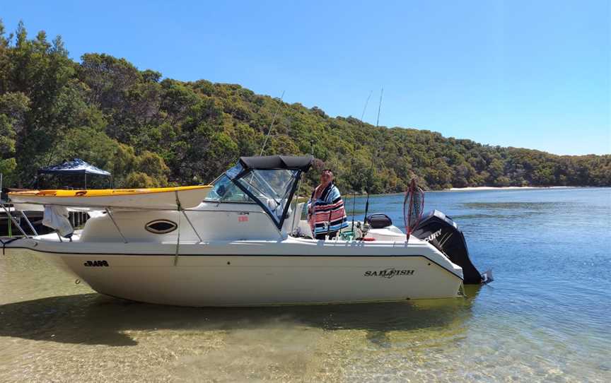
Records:
[[[175,3],[175,4],[173,4]],[[238,83],[330,116],[557,154],[611,153],[611,1],[2,1],[183,81]],[[373,92],[373,93],[372,93]]]

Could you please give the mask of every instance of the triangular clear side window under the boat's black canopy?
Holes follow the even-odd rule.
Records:
[[[284,220],[284,210],[290,203],[289,198],[298,179],[299,170],[272,169],[250,170],[242,177],[234,179],[240,187],[267,210],[277,225]]]

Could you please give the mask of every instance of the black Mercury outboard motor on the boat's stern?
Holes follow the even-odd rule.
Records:
[[[412,235],[429,242],[440,252],[446,254],[453,264],[462,267],[462,277],[466,285],[482,283],[482,275],[469,259],[465,236],[458,229],[458,225],[446,214],[438,210],[431,211],[422,217]]]

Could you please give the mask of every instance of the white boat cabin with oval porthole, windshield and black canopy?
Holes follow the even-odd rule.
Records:
[[[106,207],[90,211],[78,232],[83,242],[208,242],[213,240],[286,240],[312,238],[296,191],[313,157],[269,155],[242,157],[206,188],[203,201],[181,206],[178,194],[168,194],[175,209],[149,206]],[[199,201],[199,200],[198,200]],[[95,210],[95,209],[91,209]],[[402,240],[394,226],[375,233],[379,240]]]

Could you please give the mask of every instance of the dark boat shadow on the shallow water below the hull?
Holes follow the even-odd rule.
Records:
[[[45,297],[0,305],[0,336],[59,343],[135,346],[134,331],[223,331],[299,327],[360,330],[375,343],[388,333],[446,328],[464,331],[479,286],[467,297],[411,302],[276,307],[178,307],[117,300],[98,294]],[[442,333],[432,332],[438,336]]]

